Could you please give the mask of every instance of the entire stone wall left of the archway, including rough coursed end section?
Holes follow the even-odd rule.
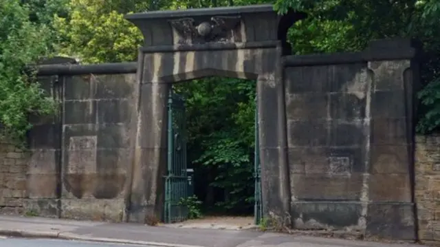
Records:
[[[0,145],[0,213],[124,219],[137,122],[135,71],[125,65],[43,67],[39,83],[59,111],[31,118],[28,153]]]

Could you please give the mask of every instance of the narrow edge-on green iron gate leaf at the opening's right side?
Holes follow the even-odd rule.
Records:
[[[260,139],[259,139],[259,108],[255,97],[255,156],[254,156],[254,178],[255,178],[255,206],[254,224],[258,225],[263,217],[263,206],[261,205],[261,163],[260,163]]]

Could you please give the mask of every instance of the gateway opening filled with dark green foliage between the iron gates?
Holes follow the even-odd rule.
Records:
[[[223,224],[225,220],[226,224],[257,223],[261,195],[259,162],[255,162],[259,161],[256,82],[205,77],[175,83],[171,90],[184,100],[185,123],[181,126],[185,126],[186,153],[179,160],[186,160],[188,176],[187,196],[179,200],[186,215],[175,222],[220,219]],[[178,190],[167,189],[170,193]]]

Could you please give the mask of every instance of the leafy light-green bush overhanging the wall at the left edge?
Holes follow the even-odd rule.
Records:
[[[0,122],[2,134],[22,143],[32,127],[29,114],[50,114],[51,98],[25,66],[50,54],[52,29],[47,19],[32,22],[30,6],[16,0],[0,1]],[[43,20],[43,15],[40,15]]]

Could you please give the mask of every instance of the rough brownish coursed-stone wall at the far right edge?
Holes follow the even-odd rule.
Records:
[[[440,241],[440,135],[417,136],[415,201],[421,241]]]

